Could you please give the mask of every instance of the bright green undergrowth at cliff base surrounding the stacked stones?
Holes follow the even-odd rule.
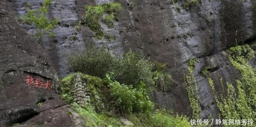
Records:
[[[62,79],[62,96],[72,96],[72,81],[76,74],[79,73]],[[95,110],[94,106],[80,107],[72,99],[64,98],[86,121],[86,127],[132,127],[124,125],[120,117],[128,119],[134,127],[191,127],[186,116],[173,116],[165,109],[153,111],[154,104],[150,102],[143,82],[128,86],[115,81],[113,73],[106,74],[103,80],[82,75],[82,80],[87,80],[89,87],[102,94],[104,100],[102,110]]]

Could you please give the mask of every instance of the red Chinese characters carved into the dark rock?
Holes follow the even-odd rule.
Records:
[[[27,78],[25,79],[25,81],[26,81],[28,86],[44,88],[44,89],[48,88],[49,90],[52,90],[50,88],[51,82],[49,80],[46,80],[46,83],[44,83],[43,81],[40,81],[39,77],[37,77],[36,80],[34,81],[33,76],[28,75]]]

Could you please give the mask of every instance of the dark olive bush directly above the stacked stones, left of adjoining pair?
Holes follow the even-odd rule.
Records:
[[[90,45],[83,53],[70,55],[68,64],[75,71],[103,78],[117,63],[116,58],[105,48]]]

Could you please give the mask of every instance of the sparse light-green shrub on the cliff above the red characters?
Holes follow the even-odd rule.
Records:
[[[23,23],[34,24],[36,27],[35,37],[40,39],[47,31],[52,31],[59,19],[48,20],[46,14],[48,12],[48,6],[51,4],[51,0],[44,0],[42,6],[38,10],[28,10],[26,16],[22,16]],[[50,32],[50,36],[54,35]]]

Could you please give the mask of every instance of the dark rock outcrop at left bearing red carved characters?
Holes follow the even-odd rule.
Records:
[[[50,58],[16,21],[8,1],[0,1],[0,126],[82,125],[56,94],[60,82]]]

